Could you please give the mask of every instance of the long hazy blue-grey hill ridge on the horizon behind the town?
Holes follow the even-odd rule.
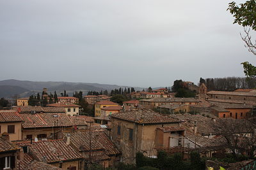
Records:
[[[75,91],[82,91],[84,95],[88,91],[95,90],[113,90],[120,87],[128,88],[120,85],[107,85],[99,83],[72,83],[64,81],[21,81],[21,80],[2,80],[0,81],[0,97],[12,97],[14,95],[19,97],[28,97],[31,94],[42,92],[43,88],[47,88],[49,92],[56,91],[58,95],[64,90],[69,96]],[[28,90],[29,89],[29,90]],[[135,90],[142,90],[141,87],[134,87]]]

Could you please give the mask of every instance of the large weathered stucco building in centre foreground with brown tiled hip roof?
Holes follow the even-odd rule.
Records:
[[[111,115],[111,138],[122,151],[122,162],[134,163],[136,152],[156,156],[156,129],[176,127],[177,118],[152,110],[125,111]]]

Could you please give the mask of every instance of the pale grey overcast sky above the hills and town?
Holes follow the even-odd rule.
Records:
[[[166,87],[255,64],[224,0],[0,0],[0,80]],[[241,2],[241,1],[240,1]]]

